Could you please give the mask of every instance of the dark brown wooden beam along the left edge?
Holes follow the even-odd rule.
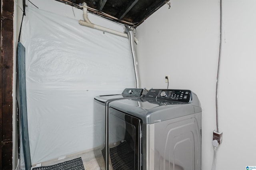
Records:
[[[0,169],[12,169],[12,82],[13,82],[13,14],[14,0],[1,4],[1,67],[0,67]]]

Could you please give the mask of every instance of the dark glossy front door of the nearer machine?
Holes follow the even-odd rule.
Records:
[[[109,110],[109,153],[114,170],[140,170],[141,121],[116,109]]]

